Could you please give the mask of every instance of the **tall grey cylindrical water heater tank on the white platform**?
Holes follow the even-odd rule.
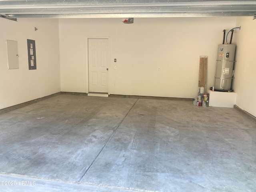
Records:
[[[235,51],[235,44],[218,45],[214,90],[231,90]]]

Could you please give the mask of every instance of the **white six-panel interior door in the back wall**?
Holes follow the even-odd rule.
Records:
[[[108,39],[88,39],[89,92],[108,93]]]

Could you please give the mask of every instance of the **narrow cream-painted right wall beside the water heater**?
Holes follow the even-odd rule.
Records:
[[[252,20],[252,17],[239,17],[236,26],[241,26],[235,36],[236,105],[256,116],[256,20]]]

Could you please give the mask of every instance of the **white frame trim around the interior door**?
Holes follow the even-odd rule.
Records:
[[[108,95],[110,95],[110,36],[86,36],[86,93],[89,93],[89,39],[108,39]]]

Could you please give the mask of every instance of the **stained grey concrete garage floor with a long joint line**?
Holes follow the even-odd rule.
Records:
[[[0,131],[4,192],[256,189],[256,122],[233,108],[58,94],[1,114]]]

